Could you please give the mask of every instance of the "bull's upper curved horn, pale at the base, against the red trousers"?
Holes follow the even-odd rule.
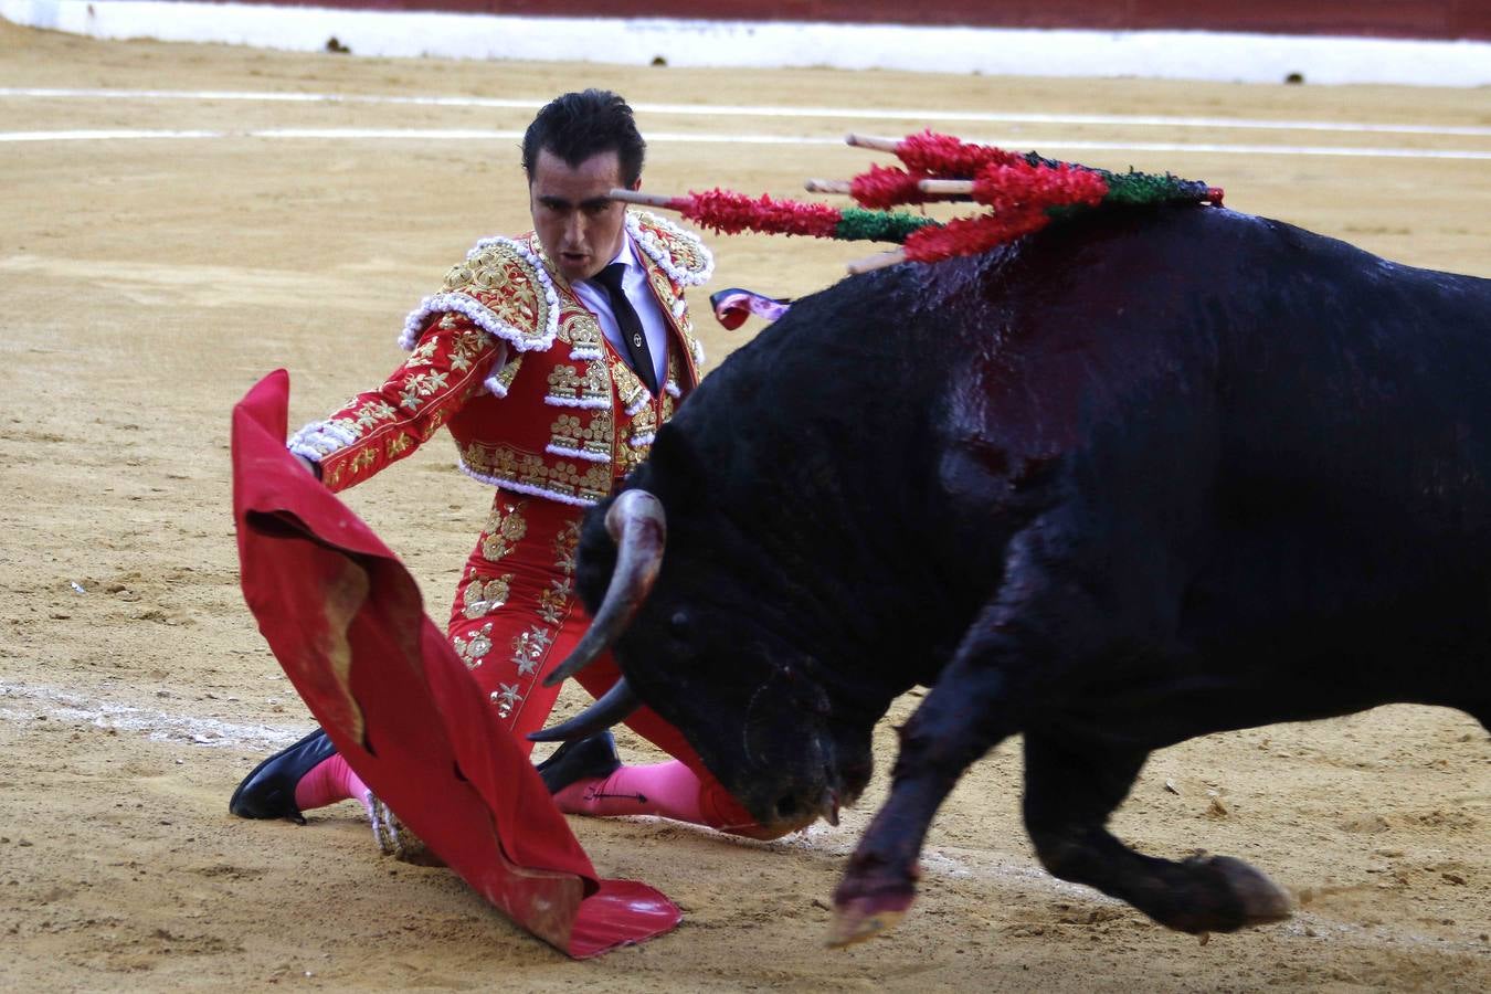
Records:
[[[605,513],[605,531],[616,542],[616,571],[605,589],[605,601],[574,651],[544,677],[546,687],[553,687],[593,663],[626,630],[658,578],[668,541],[668,519],[662,513],[662,501],[647,490],[622,492]]]

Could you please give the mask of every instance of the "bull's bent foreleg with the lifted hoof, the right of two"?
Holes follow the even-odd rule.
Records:
[[[1288,918],[1284,891],[1241,860],[1141,855],[1103,827],[1147,756],[1026,732],[1026,827],[1045,867],[1181,931],[1233,931]]]

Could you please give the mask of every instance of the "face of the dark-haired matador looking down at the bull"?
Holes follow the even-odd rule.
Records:
[[[610,192],[622,185],[616,152],[598,152],[571,167],[540,149],[528,177],[528,209],[544,253],[571,283],[590,279],[620,252],[626,204]],[[638,186],[640,179],[632,189]]]

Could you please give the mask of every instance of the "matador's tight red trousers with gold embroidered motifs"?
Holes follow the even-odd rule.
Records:
[[[450,610],[450,644],[525,754],[532,751],[528,733],[547,723],[559,696],[559,687],[544,687],[543,678],[590,624],[574,590],[583,514],[584,508],[498,490]],[[599,697],[619,675],[605,653],[576,680]],[[683,735],[652,708],[643,708],[626,724],[698,775],[699,808],[710,827],[769,838],[704,767]]]

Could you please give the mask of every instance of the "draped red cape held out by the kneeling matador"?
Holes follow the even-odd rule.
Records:
[[[243,596],[358,776],[479,894],[571,957],[643,942],[678,908],[599,879],[413,577],[285,450],[289,377],[233,411]]]

